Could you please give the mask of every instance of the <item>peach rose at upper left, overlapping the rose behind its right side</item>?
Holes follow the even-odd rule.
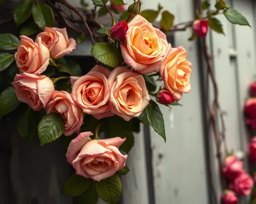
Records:
[[[14,57],[20,72],[41,74],[49,65],[50,53],[45,43],[41,41],[41,37],[34,42],[22,35]]]

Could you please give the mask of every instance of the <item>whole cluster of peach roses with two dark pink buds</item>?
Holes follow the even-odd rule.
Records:
[[[131,69],[119,66],[109,71],[96,65],[84,76],[70,77],[71,94],[55,91],[52,80],[40,75],[50,58],[58,59],[76,48],[66,29],[45,28],[35,42],[21,36],[15,54],[20,74],[12,83],[17,98],[35,111],[45,108],[47,114],[60,114],[65,121],[64,135],[70,136],[80,132],[84,113],[96,119],[116,114],[126,121],[140,116],[150,101],[142,74],[160,72],[164,87],[158,91],[157,100],[165,105],[191,90],[191,63],[186,50],[182,46],[172,48],[166,35],[142,16],[136,15],[128,24],[121,21],[110,32],[120,40],[122,57]],[[118,150],[125,139],[91,140],[91,135],[80,133],[70,143],[66,156],[77,174],[100,181],[125,166],[127,156]]]

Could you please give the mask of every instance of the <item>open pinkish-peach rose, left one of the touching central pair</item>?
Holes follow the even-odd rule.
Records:
[[[82,77],[70,77],[70,82],[73,85],[72,98],[84,113],[93,115],[96,119],[114,115],[110,111],[111,104],[108,102],[110,95],[109,73],[108,69],[96,65]]]

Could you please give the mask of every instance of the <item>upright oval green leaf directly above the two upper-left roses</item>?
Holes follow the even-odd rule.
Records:
[[[53,27],[54,18],[52,8],[45,3],[39,3],[33,7],[33,18],[35,23],[44,30],[44,27]]]

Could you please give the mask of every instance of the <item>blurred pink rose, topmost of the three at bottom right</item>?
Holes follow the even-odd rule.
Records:
[[[237,176],[244,173],[243,162],[238,161],[236,156],[227,156],[223,173],[231,181],[235,180]]]

